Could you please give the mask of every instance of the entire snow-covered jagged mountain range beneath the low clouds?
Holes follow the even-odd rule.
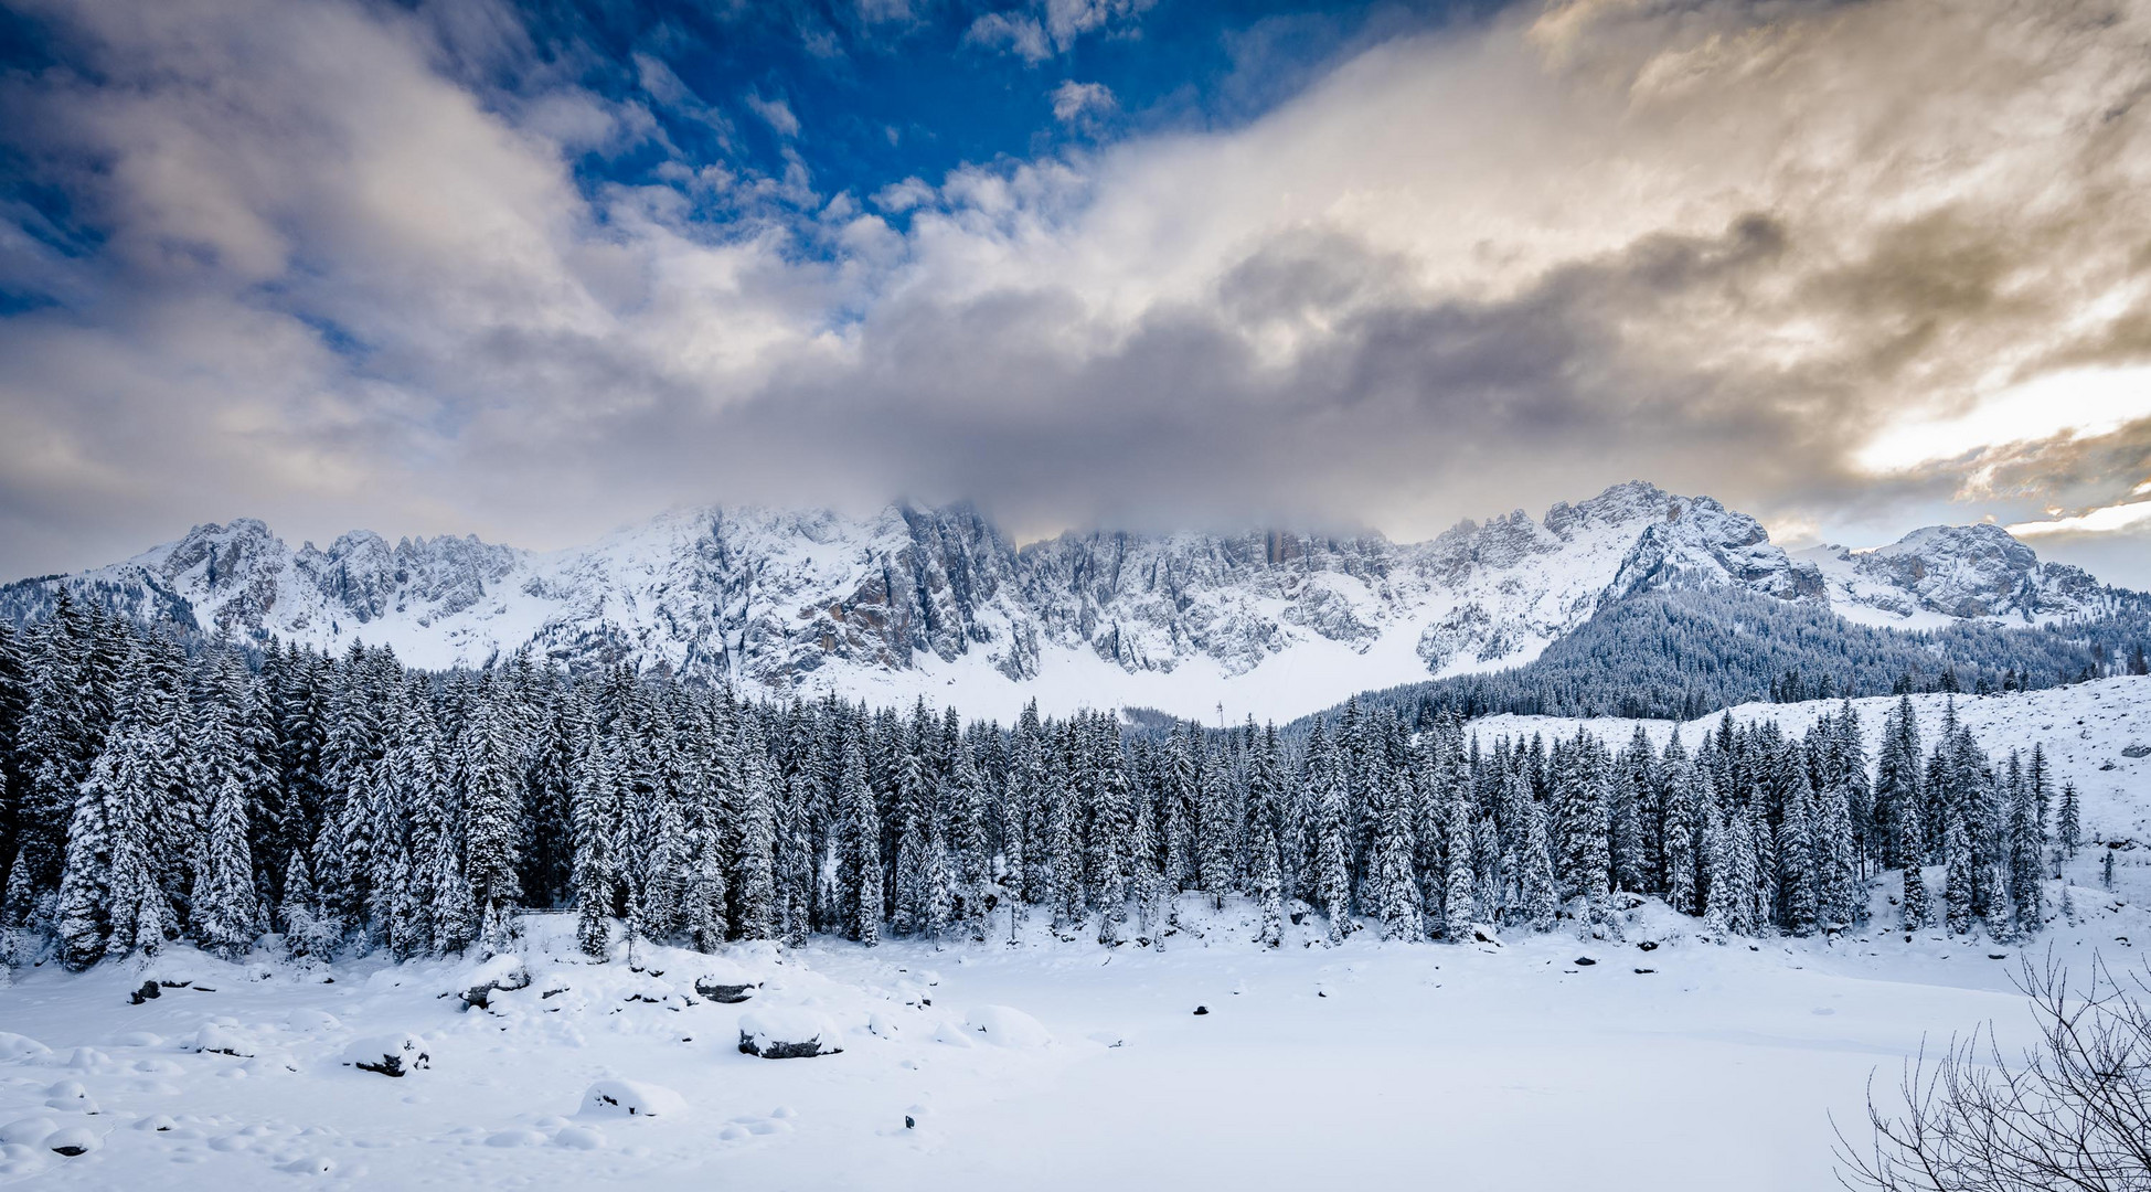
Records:
[[[1521,665],[1600,609],[1669,587],[1828,602],[1869,624],[2089,615],[2114,598],[1992,525],[1787,555],[1710,497],[1630,482],[1465,521],[1430,542],[1258,531],[1065,534],[1015,547],[979,512],[703,508],[533,553],[344,534],[288,547],[252,519],[105,568],[0,590],[24,620],[67,585],[146,622],[419,667],[538,654],[665,663],[749,691],[955,701],[1009,714],[1155,706],[1293,716],[1353,691]]]

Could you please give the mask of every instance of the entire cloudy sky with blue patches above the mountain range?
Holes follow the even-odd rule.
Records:
[[[0,572],[1643,478],[2151,585],[2151,11],[2076,6],[17,0]]]

